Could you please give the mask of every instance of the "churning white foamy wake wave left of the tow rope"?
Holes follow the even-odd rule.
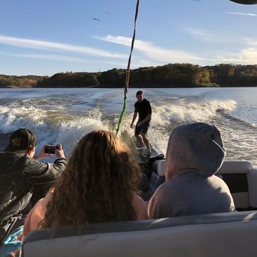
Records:
[[[20,127],[33,130],[37,134],[37,152],[44,144],[62,144],[68,155],[84,134],[92,130],[108,130],[108,125],[101,121],[101,113],[97,110],[84,117],[34,107],[0,108],[0,113],[0,132],[11,133]]]

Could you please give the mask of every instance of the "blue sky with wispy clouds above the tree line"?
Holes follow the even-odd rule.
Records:
[[[137,0],[0,4],[0,74],[51,76],[127,68]],[[256,27],[257,4],[141,0],[131,68],[257,64]]]

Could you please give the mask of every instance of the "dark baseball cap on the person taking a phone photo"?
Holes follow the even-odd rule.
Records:
[[[10,142],[5,151],[24,153],[37,145],[37,137],[32,130],[20,128],[11,134]]]

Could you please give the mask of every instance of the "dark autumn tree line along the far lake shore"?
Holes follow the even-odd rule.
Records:
[[[0,87],[124,87],[125,69],[49,76],[0,75]],[[257,65],[170,63],[130,70],[130,87],[254,87]]]

